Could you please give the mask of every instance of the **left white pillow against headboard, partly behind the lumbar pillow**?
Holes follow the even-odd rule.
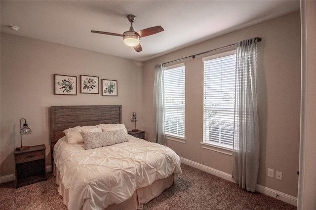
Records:
[[[101,128],[98,128],[97,126],[77,126],[74,128],[69,128],[66,129],[64,131],[64,134],[67,137],[67,141],[69,144],[78,144],[78,143],[82,143],[83,139],[82,139],[82,133],[86,133],[86,132],[101,132]]]

